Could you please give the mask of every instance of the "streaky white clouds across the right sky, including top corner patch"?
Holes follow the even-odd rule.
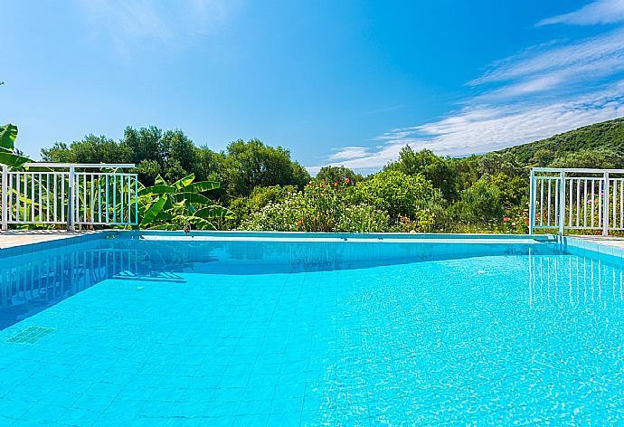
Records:
[[[624,0],[599,0],[539,24],[619,21],[624,22]],[[624,115],[624,27],[530,47],[493,63],[468,85],[479,94],[463,100],[458,110],[386,132],[374,138],[373,147],[336,149],[327,163],[370,172],[395,160],[405,145],[464,156],[618,118]]]

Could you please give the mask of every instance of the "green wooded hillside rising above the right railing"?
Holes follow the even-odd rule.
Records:
[[[605,149],[624,156],[624,118],[594,123],[550,138],[505,148],[498,153],[512,154],[518,162],[529,165],[539,163],[535,158],[538,151],[538,155],[546,154],[554,160],[579,151]]]

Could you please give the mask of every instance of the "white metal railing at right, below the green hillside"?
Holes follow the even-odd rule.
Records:
[[[529,233],[536,229],[624,230],[624,169],[534,167]]]

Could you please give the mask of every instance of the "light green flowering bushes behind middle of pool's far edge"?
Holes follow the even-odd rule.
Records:
[[[435,223],[439,191],[422,176],[386,172],[350,184],[312,182],[303,192],[269,203],[241,223],[242,230],[299,232],[421,232]]]

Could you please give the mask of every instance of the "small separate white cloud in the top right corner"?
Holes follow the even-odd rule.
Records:
[[[614,24],[624,21],[624,0],[597,0],[570,14],[560,14],[540,21],[551,24]]]

